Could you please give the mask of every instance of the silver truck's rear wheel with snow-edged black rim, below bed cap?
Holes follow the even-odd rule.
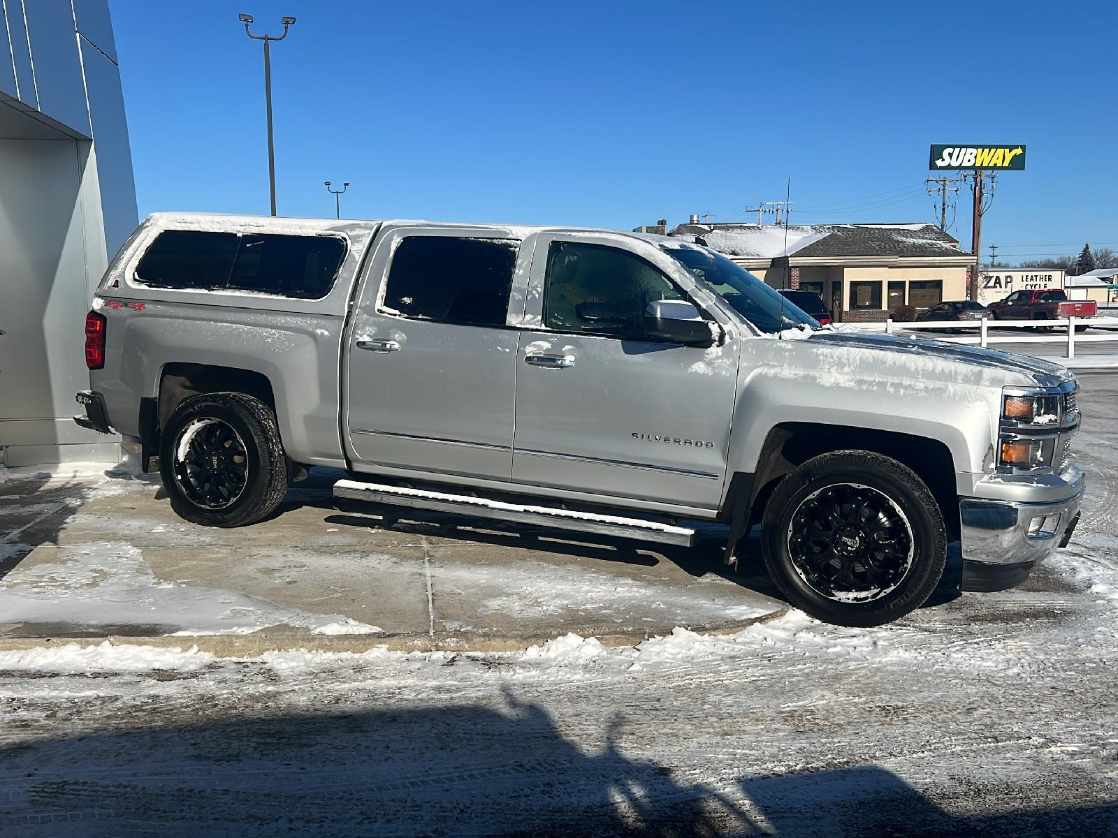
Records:
[[[171,507],[195,524],[255,524],[287,491],[275,413],[243,393],[183,401],[163,430],[159,461]]]

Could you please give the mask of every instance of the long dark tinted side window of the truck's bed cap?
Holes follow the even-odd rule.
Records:
[[[159,288],[316,299],[330,293],[344,257],[345,242],[332,236],[165,230],[140,259],[136,279]]]

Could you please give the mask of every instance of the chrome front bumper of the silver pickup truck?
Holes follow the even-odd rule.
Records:
[[[963,590],[999,591],[1025,581],[1071,539],[1086,488],[1080,479],[1070,497],[1043,503],[959,498]]]

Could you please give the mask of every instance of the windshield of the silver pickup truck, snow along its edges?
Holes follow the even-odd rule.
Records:
[[[661,245],[661,249],[707,283],[711,291],[761,332],[775,333],[796,326],[822,328],[818,321],[785,299],[776,288],[713,250],[670,245]]]

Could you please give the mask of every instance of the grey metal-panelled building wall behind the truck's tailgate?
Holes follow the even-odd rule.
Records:
[[[0,0],[0,450],[112,459],[70,421],[83,320],[136,225],[107,0]]]

